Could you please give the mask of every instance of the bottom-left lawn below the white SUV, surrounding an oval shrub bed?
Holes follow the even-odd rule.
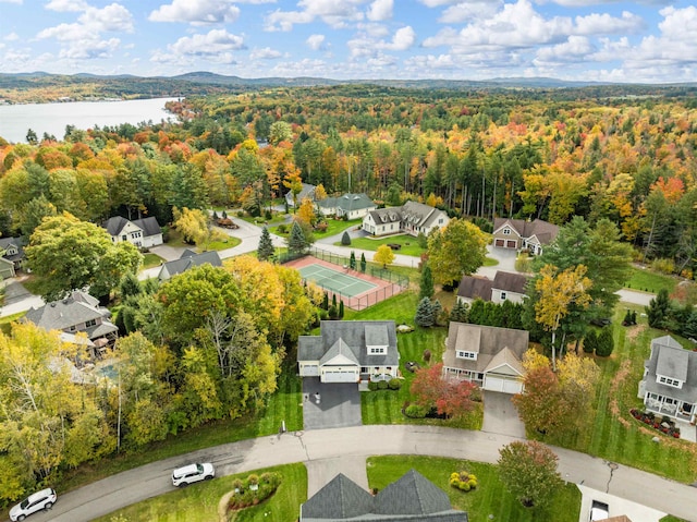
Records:
[[[235,512],[229,519],[231,522],[254,520],[292,522],[297,520],[299,505],[307,499],[307,469],[305,465],[297,463],[255,471],[259,475],[265,472],[281,474],[279,488],[265,502]],[[220,499],[233,489],[235,478],[245,479],[248,475],[249,473],[241,473],[194,484],[167,495],[134,503],[95,520],[110,522],[114,517],[121,517],[117,520],[127,520],[129,522],[209,522],[219,520],[218,503]]]

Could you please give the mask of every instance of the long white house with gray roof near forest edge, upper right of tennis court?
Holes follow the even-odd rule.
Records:
[[[395,233],[428,235],[435,229],[447,227],[448,214],[418,202],[406,202],[401,207],[378,208],[363,218],[362,228],[375,236]]]

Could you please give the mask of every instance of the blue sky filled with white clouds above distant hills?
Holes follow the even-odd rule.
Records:
[[[685,0],[0,0],[0,72],[697,81]]]

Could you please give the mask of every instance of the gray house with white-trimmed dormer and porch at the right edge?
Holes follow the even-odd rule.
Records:
[[[638,397],[650,412],[678,421],[697,420],[697,352],[671,336],[651,341]]]

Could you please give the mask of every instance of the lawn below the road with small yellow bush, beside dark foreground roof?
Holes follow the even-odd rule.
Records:
[[[489,520],[505,522],[578,522],[580,491],[574,484],[559,490],[548,510],[524,508],[499,481],[497,466],[480,462],[467,462],[440,457],[389,456],[371,457],[367,461],[370,487],[384,488],[414,469],[443,489],[455,509],[467,511],[470,522]],[[474,473],[479,482],[477,489],[465,493],[448,484],[455,471]],[[490,519],[489,515],[493,515]]]

